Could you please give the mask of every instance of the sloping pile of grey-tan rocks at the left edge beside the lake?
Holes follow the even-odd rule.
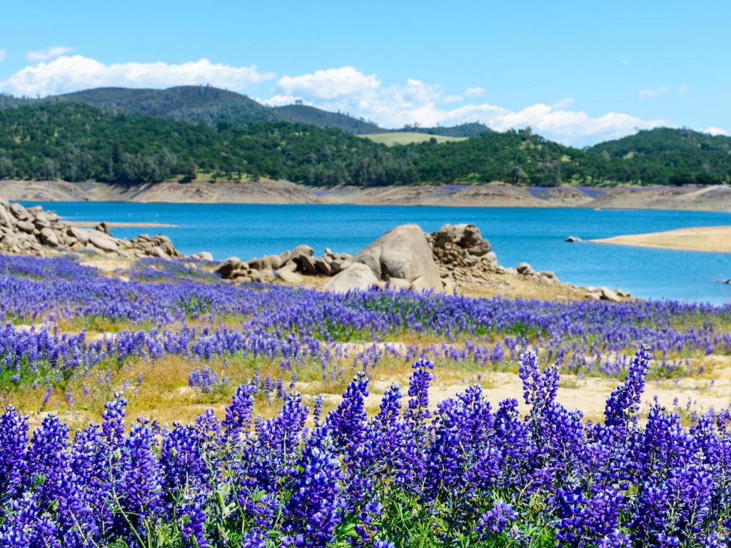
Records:
[[[44,211],[40,206],[23,208],[18,203],[0,199],[0,250],[42,256],[48,248],[125,257],[182,256],[170,238],[164,235],[140,235],[132,240],[124,240],[110,235],[105,223],[87,230],[61,221],[56,213]]]

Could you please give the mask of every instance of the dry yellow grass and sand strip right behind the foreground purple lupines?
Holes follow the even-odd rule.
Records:
[[[355,346],[354,346],[355,351]],[[323,378],[319,363],[306,363],[295,370],[298,380],[295,384],[303,400],[309,406],[314,398],[321,395],[325,412],[338,406],[346,386],[355,374],[352,353],[338,365],[338,374],[331,380],[328,372]],[[188,376],[192,368],[208,365],[220,376],[227,376],[230,382],[224,387],[214,389],[205,394],[200,389],[189,387]],[[731,402],[731,356],[710,356],[692,359],[692,366],[703,365],[705,371],[696,376],[678,380],[648,381],[645,391],[645,406],[657,397],[662,405],[672,408],[673,400],[678,398],[681,404],[688,398],[697,402],[698,410],[714,407],[724,408]],[[107,370],[110,379],[107,381]],[[223,418],[224,409],[230,403],[235,389],[248,382],[254,373],[260,370],[261,378],[270,375],[282,378],[284,386],[289,387],[292,371],[282,371],[278,363],[266,359],[251,357],[230,357],[224,368],[224,359],[213,359],[210,362],[166,356],[162,359],[146,362],[135,359],[119,367],[115,363],[105,363],[94,368],[82,378],[69,381],[67,387],[56,389],[42,408],[43,389],[7,392],[5,400],[12,403],[23,413],[29,414],[31,427],[37,427],[48,410],[56,411],[72,430],[85,427],[89,422],[101,420],[104,403],[113,397],[114,392],[121,391],[126,381],[125,397],[129,401],[128,417],[133,422],[137,416],[150,416],[161,423],[172,425],[173,422],[190,422],[208,408],[212,408],[219,418]],[[452,397],[471,384],[479,383],[485,390],[493,406],[506,398],[516,398],[521,402],[522,384],[516,374],[517,364],[498,365],[497,367],[474,365],[470,363],[448,362],[436,360],[433,371],[434,381],[431,387],[431,403],[436,407],[439,400]],[[137,386],[137,378],[143,376],[143,382]],[[412,373],[410,362],[402,357],[387,356],[382,358],[375,368],[368,370],[371,375],[370,395],[366,400],[366,409],[374,414],[378,411],[381,397],[392,382],[402,387],[406,397],[409,376]],[[617,379],[569,375],[561,376],[558,400],[569,409],[580,409],[586,419],[601,420],[607,395],[618,384]],[[83,387],[88,389],[84,395]],[[69,405],[65,392],[72,393],[73,404]],[[273,416],[279,411],[281,400],[272,397],[267,400],[263,395],[257,396],[256,411],[262,416]]]

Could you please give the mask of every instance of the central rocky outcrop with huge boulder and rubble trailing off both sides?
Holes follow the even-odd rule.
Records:
[[[304,276],[330,278],[323,289],[347,292],[352,289],[433,290],[457,294],[464,286],[496,283],[496,278],[517,276],[536,286],[567,286],[586,291],[586,298],[622,300],[629,294],[605,287],[582,289],[561,284],[555,273],[537,271],[526,262],[515,268],[502,267],[488,240],[474,224],[445,224],[425,234],[416,224],[405,224],[387,232],[354,256],[333,253],[325,248],[315,256],[309,246],[297,246],[279,255],[267,255],[243,262],[230,257],[216,269],[232,281],[302,283]],[[510,286],[507,281],[500,281]]]

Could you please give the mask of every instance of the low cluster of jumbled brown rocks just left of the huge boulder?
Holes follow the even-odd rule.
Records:
[[[336,275],[344,270],[349,259],[349,254],[333,253],[327,248],[325,254],[316,257],[310,246],[303,245],[279,255],[254,257],[248,261],[229,257],[216,267],[216,273],[224,280],[268,282],[279,278],[287,283],[300,283],[303,274]]]

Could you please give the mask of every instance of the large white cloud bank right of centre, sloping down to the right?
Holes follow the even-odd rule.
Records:
[[[357,82],[366,85],[359,87],[355,85]],[[285,76],[277,88],[282,93],[268,99],[269,104],[290,104],[294,99],[302,99],[325,110],[355,113],[387,128],[413,123],[451,126],[479,121],[498,131],[531,126],[549,139],[586,145],[624,137],[638,129],[673,125],[670,120],[644,120],[624,113],[592,117],[580,110],[569,110],[573,102],[569,98],[553,105],[531,104],[521,110],[489,103],[452,107],[452,96],[444,96],[441,85],[409,78],[405,84],[384,86],[376,75],[365,75],[351,66],[311,75]]]

